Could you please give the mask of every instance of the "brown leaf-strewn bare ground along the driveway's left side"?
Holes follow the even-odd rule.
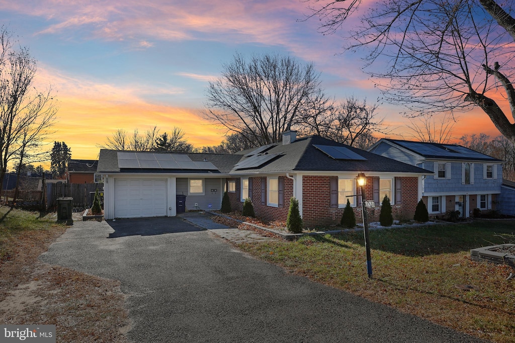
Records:
[[[0,322],[55,324],[58,342],[127,342],[119,281],[38,261],[65,229],[27,230],[0,241]]]

